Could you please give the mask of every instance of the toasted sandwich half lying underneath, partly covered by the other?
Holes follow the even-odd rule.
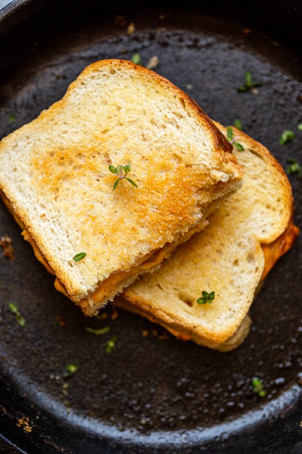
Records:
[[[184,340],[220,351],[243,342],[261,278],[298,234],[291,223],[291,187],[282,167],[264,146],[235,128],[234,137],[244,147],[234,149],[245,168],[243,188],[159,271],[137,280],[116,300]],[[197,303],[203,291],[215,292],[211,303]]]

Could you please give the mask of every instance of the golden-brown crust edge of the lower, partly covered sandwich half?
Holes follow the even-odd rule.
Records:
[[[222,131],[226,132],[226,128],[222,127],[218,123],[215,123]],[[282,166],[278,161],[270,154],[270,152],[260,143],[254,141],[246,134],[234,128],[234,135],[239,136],[239,140],[244,139],[244,143],[248,144],[249,150],[258,155],[264,162],[266,162],[270,168],[270,172],[274,173],[278,184],[282,186],[282,208],[283,208],[283,219],[280,222],[278,228],[276,228],[270,236],[264,241],[258,243],[257,248],[261,248],[264,255],[264,268],[261,279],[269,272],[276,261],[285,254],[290,247],[293,245],[299,229],[292,223],[292,210],[293,210],[293,198],[291,192],[291,186],[287,179]],[[209,227],[210,228],[210,227]],[[173,260],[173,257],[172,257]],[[161,271],[159,271],[160,273]],[[167,276],[165,277],[167,278]],[[232,348],[236,348],[241,342],[243,342],[248,332],[249,323],[245,323],[244,329],[241,330],[241,325],[233,327],[230,330],[224,330],[223,335],[214,333],[213,330],[207,330],[204,328],[203,332],[198,331],[194,327],[193,329],[186,326],[182,319],[178,316],[173,318],[168,315],[164,310],[159,307],[155,307],[154,303],[150,303],[143,297],[143,292],[133,292],[131,287],[126,289],[124,298],[116,299],[114,304],[117,304],[121,308],[125,308],[131,312],[135,312],[148,318],[153,322],[157,322],[163,325],[171,333],[181,338],[184,341],[193,340],[197,344],[202,344],[210,348],[218,349],[220,351],[229,351]],[[256,289],[257,292],[257,289]],[[234,331],[234,328],[236,331]],[[237,336],[238,334],[238,336]],[[236,342],[230,342],[232,339]]]

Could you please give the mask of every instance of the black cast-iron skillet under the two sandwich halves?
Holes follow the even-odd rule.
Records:
[[[92,3],[84,9],[76,2],[37,7],[17,0],[15,5],[16,10],[21,5],[19,12],[0,23],[1,137],[59,99],[88,64],[130,59],[139,52],[144,65],[157,55],[157,71],[188,92],[211,118],[226,125],[240,118],[244,131],[283,166],[288,156],[302,161],[296,55],[274,38],[244,31],[252,13],[250,22],[233,22],[238,8],[232,7],[225,10],[229,18],[221,19],[197,9],[128,6],[124,13]],[[276,21],[279,13],[272,13]],[[135,22],[133,34],[120,26],[121,20],[114,24],[118,14]],[[286,10],[283,33],[287,14],[298,24],[298,10]],[[280,37],[282,30],[273,28]],[[291,46],[295,30],[293,22],[293,30],[284,33]],[[247,70],[263,82],[257,94],[237,92]],[[282,147],[278,137],[284,129],[293,130],[295,139]],[[295,176],[290,180],[295,222],[301,226],[300,181]],[[267,277],[251,309],[253,326],[245,343],[221,354],[177,341],[123,311],[116,319],[112,309],[105,310],[106,320],[84,317],[54,290],[53,277],[1,205],[3,234],[13,239],[16,253],[15,262],[0,257],[4,437],[30,453],[302,452],[301,238]],[[26,319],[23,328],[8,309],[11,301]],[[85,326],[106,325],[111,331],[102,336],[85,331]],[[105,344],[112,335],[116,349],[108,354]],[[79,371],[62,381],[65,364],[75,360]],[[265,398],[252,392],[253,376],[263,380]],[[0,448],[14,452],[4,438]]]

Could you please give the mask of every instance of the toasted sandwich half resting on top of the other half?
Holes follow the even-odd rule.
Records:
[[[201,230],[243,176],[190,97],[123,60],[87,67],[0,142],[0,158],[0,189],[25,238],[88,315]],[[137,188],[124,179],[113,191],[108,166],[128,162]]]

